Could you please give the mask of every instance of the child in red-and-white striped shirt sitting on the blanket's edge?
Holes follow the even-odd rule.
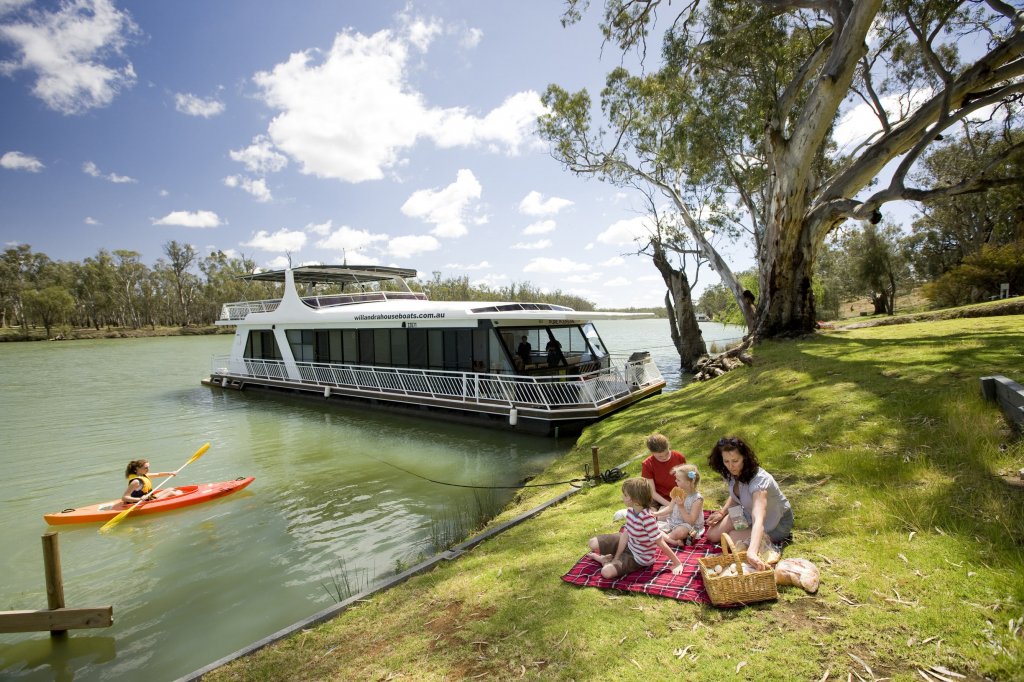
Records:
[[[630,478],[623,483],[623,502],[626,503],[626,532],[612,532],[590,539],[590,558],[600,561],[603,578],[621,578],[641,570],[654,563],[656,549],[672,561],[672,572],[683,572],[683,564],[672,551],[651,516],[650,486],[643,478]]]

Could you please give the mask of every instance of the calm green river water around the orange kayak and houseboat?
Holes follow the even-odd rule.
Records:
[[[651,349],[678,386],[666,321],[606,322],[601,331],[613,352]],[[705,336],[731,331],[713,325]],[[66,639],[0,634],[0,678],[186,675],[333,605],[342,571],[357,592],[431,554],[431,528],[453,510],[511,497],[402,469],[514,485],[573,444],[202,386],[210,357],[229,346],[226,336],[0,343],[2,608],[46,608],[40,538],[49,529],[59,531],[67,606],[114,607],[113,627]],[[129,517],[104,535],[98,524],[43,521],[119,497],[131,459],[172,471],[207,441],[174,483],[252,475],[252,485]]]

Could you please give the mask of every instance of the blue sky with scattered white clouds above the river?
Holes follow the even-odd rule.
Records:
[[[659,305],[629,255],[642,197],[534,133],[549,83],[596,93],[621,59],[561,8],[0,0],[0,243],[152,265],[177,240]]]

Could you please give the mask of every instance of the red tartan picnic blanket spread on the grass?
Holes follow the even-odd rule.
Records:
[[[695,545],[674,549],[683,564],[683,572],[678,576],[672,574],[672,562],[658,549],[657,558],[649,567],[615,579],[602,578],[601,563],[585,554],[567,573],[562,576],[562,580],[581,587],[642,592],[680,601],[711,603],[703,587],[703,579],[700,578],[700,564],[697,561],[705,556],[721,554],[722,548],[718,545],[709,545],[701,537]]]

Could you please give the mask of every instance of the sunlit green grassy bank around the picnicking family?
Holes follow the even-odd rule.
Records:
[[[719,610],[562,583],[616,527],[620,485],[600,485],[207,679],[1021,679],[1024,491],[1001,475],[1024,442],[981,399],[989,374],[1024,379],[1021,316],[768,343],[753,368],[591,427],[538,479],[581,475],[591,445],[603,467],[630,460],[662,431],[715,507],[707,453],[740,434],[794,504],[786,555],[819,565],[815,596]],[[561,489],[527,488],[498,520]]]

